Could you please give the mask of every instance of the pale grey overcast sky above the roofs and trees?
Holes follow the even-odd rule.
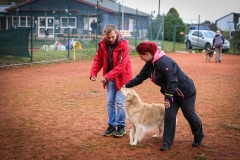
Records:
[[[139,11],[151,14],[158,13],[159,0],[117,0]],[[160,0],[160,14],[167,14],[170,8],[174,7],[180,18],[186,23],[197,23],[200,15],[200,22],[209,20],[215,22],[217,19],[229,13],[240,13],[240,0]]]

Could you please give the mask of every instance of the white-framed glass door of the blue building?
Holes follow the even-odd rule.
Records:
[[[38,36],[54,37],[54,17],[38,17]]]

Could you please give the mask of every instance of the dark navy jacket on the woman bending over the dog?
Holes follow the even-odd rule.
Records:
[[[161,87],[162,94],[172,94],[174,100],[187,99],[196,94],[194,82],[165,54],[154,63],[147,62],[140,73],[125,86],[131,88],[150,78],[153,83]]]

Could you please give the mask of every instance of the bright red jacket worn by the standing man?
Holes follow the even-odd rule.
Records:
[[[104,38],[98,45],[97,54],[94,57],[94,62],[90,71],[90,77],[97,77],[98,72],[103,68],[103,77],[108,81],[115,80],[116,89],[121,87],[132,79],[132,66],[130,61],[130,48],[126,39],[121,39],[121,34],[118,36],[118,44],[113,50],[113,69],[108,70],[108,53],[106,50],[106,41]],[[104,84],[104,88],[106,84]]]

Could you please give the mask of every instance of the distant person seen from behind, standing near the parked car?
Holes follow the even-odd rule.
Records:
[[[219,30],[216,31],[216,35],[213,38],[213,47],[216,52],[216,63],[222,61],[222,46],[224,44],[224,37]]]

